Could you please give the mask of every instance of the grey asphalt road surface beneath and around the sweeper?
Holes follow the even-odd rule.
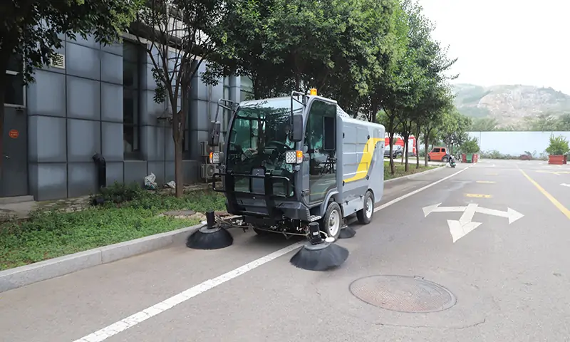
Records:
[[[356,237],[338,242],[351,254],[334,271],[297,269],[289,264],[294,252],[243,268],[292,242],[233,231],[227,249],[181,242],[6,291],[0,341],[570,341],[570,187],[561,185],[570,185],[570,166],[467,166],[387,183],[373,222],[354,224]],[[486,210],[508,208],[511,224]],[[454,228],[455,242],[447,220],[466,224]],[[480,225],[464,234],[469,222]],[[378,275],[405,277],[365,278]],[[183,291],[176,306],[105,328]],[[426,308],[443,309],[402,312]]]

